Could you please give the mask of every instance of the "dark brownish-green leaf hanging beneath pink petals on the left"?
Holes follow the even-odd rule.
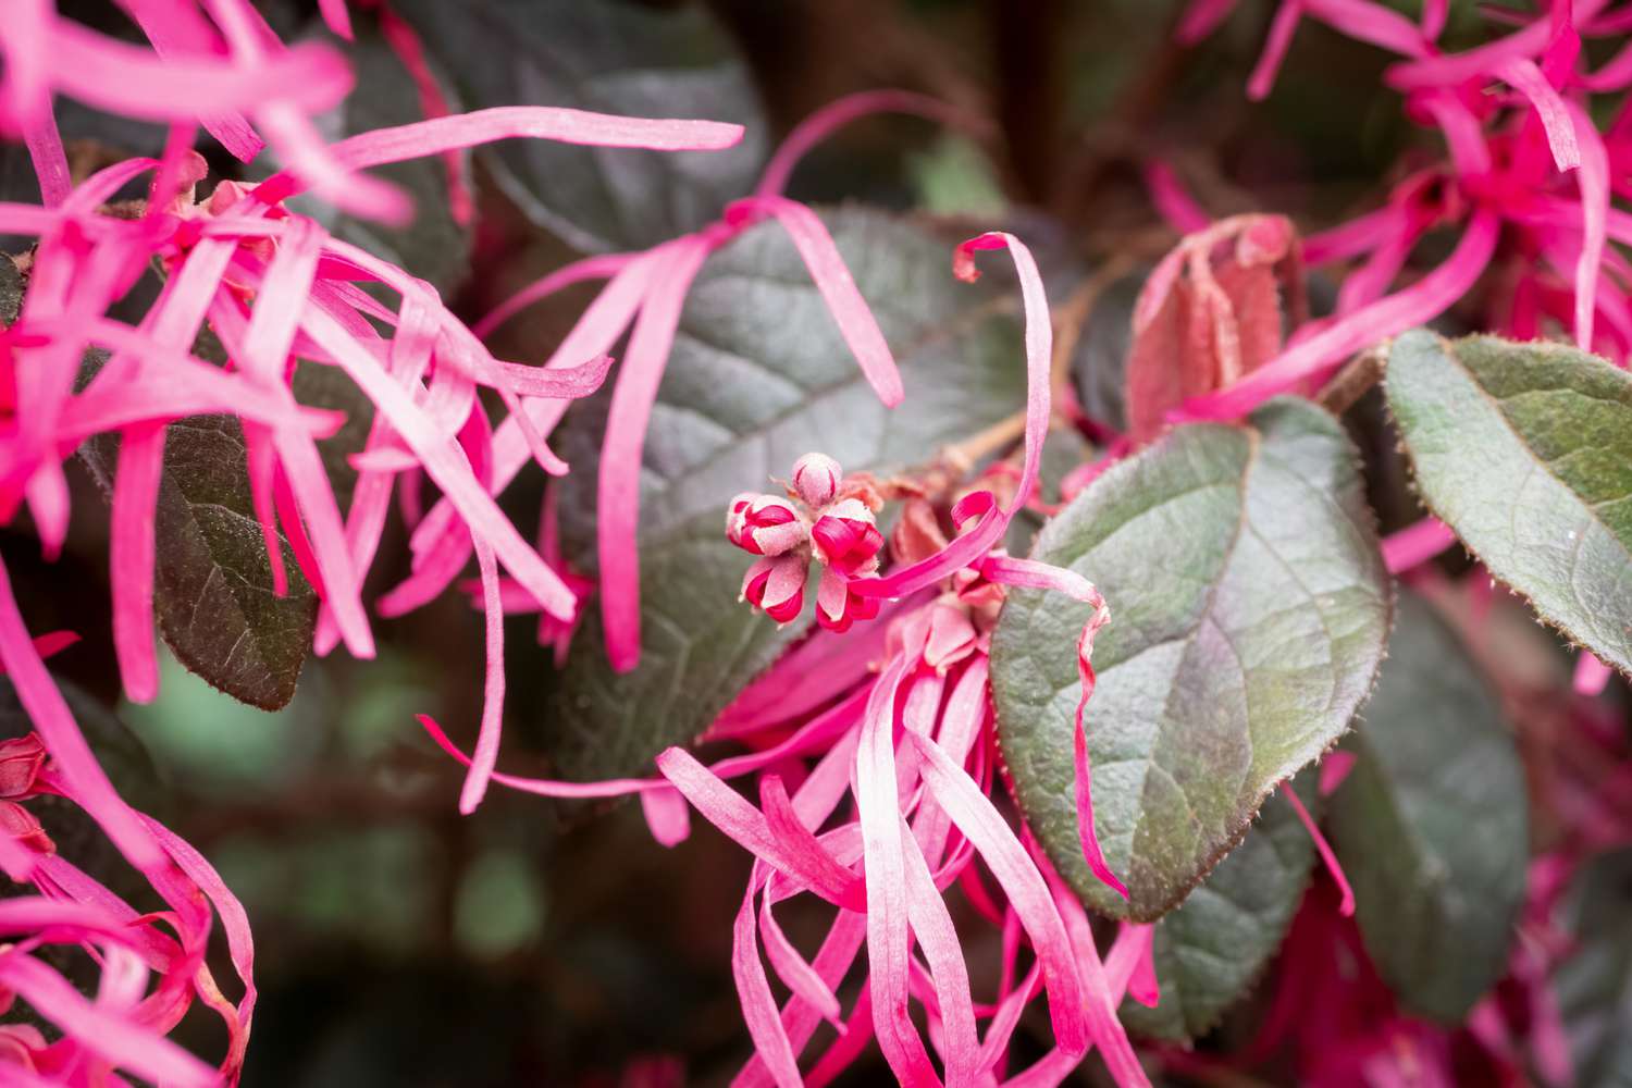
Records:
[[[113,486],[118,452],[111,434],[80,447],[104,489]],[[273,595],[237,419],[193,416],[170,424],[155,533],[153,612],[176,659],[251,706],[287,705],[312,646],[317,595],[287,542],[289,595]]]

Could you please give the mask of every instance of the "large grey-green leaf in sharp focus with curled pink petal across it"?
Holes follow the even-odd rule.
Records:
[[[1013,592],[992,638],[1015,798],[1077,892],[1116,918],[1172,910],[1276,783],[1342,736],[1382,659],[1389,582],[1348,439],[1291,398],[1248,424],[1172,431],[1095,480],[1031,553],[1110,604],[1087,731],[1100,843],[1129,900],[1077,843],[1087,607]]]

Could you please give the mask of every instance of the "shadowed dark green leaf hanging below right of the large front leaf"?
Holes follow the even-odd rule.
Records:
[[[1420,597],[1399,625],[1328,824],[1373,962],[1446,1024],[1501,975],[1529,861],[1524,768],[1501,701]]]

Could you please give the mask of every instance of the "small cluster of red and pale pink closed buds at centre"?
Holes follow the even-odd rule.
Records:
[[[744,493],[731,499],[726,540],[761,556],[743,577],[743,600],[777,623],[792,623],[805,610],[814,559],[821,566],[818,623],[847,631],[857,620],[876,617],[878,600],[850,586],[878,569],[885,538],[873,517],[876,502],[865,484],[847,486],[839,462],[826,453],[806,453],[793,463],[787,496]]]

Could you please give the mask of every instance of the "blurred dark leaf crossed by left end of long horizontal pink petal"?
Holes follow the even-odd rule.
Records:
[[[317,119],[330,142],[348,135],[424,121],[419,90],[408,69],[380,38],[370,20],[356,21],[357,41],[346,55],[357,73],[356,90],[339,106]],[[468,160],[460,160],[468,183]],[[413,199],[413,220],[403,227],[344,215],[335,206],[300,196],[290,204],[344,241],[408,269],[444,295],[450,294],[470,272],[472,232],[449,210],[447,163],[441,155],[413,158],[405,163],[377,166],[379,175],[400,186]]]

